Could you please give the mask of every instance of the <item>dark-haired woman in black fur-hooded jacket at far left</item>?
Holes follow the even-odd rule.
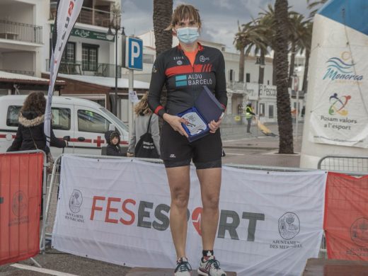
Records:
[[[43,130],[45,121],[46,98],[42,92],[33,92],[25,98],[19,113],[18,130],[16,138],[7,151],[29,151],[40,149],[46,154],[50,152],[46,146],[46,136]],[[50,146],[64,148],[68,146],[67,141],[59,140],[54,132],[50,132]]]

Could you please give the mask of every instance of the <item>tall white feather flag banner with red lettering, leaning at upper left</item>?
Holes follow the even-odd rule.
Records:
[[[47,93],[47,103],[45,110],[44,132],[46,135],[46,144],[50,146],[51,131],[51,103],[54,84],[59,71],[60,61],[64,47],[67,45],[71,29],[74,27],[76,18],[81,11],[83,0],[58,0],[57,13],[55,16],[54,30],[52,32],[52,48],[50,57],[50,84]]]

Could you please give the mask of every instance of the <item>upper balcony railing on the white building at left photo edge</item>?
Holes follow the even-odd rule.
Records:
[[[0,38],[42,44],[42,26],[0,20]]]

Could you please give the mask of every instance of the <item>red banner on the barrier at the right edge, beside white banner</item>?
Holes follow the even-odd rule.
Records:
[[[328,173],[323,228],[328,258],[368,260],[368,176]]]

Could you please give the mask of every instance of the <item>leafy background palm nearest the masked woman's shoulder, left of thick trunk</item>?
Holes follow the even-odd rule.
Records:
[[[257,46],[259,49],[263,48],[263,37],[260,30],[263,27],[256,25],[255,21],[248,22],[243,25],[238,23],[238,33],[235,35],[234,45],[237,50],[240,51],[239,59],[239,81],[244,81],[244,61],[245,57],[251,51],[253,45]],[[247,51],[244,52],[247,48]]]

